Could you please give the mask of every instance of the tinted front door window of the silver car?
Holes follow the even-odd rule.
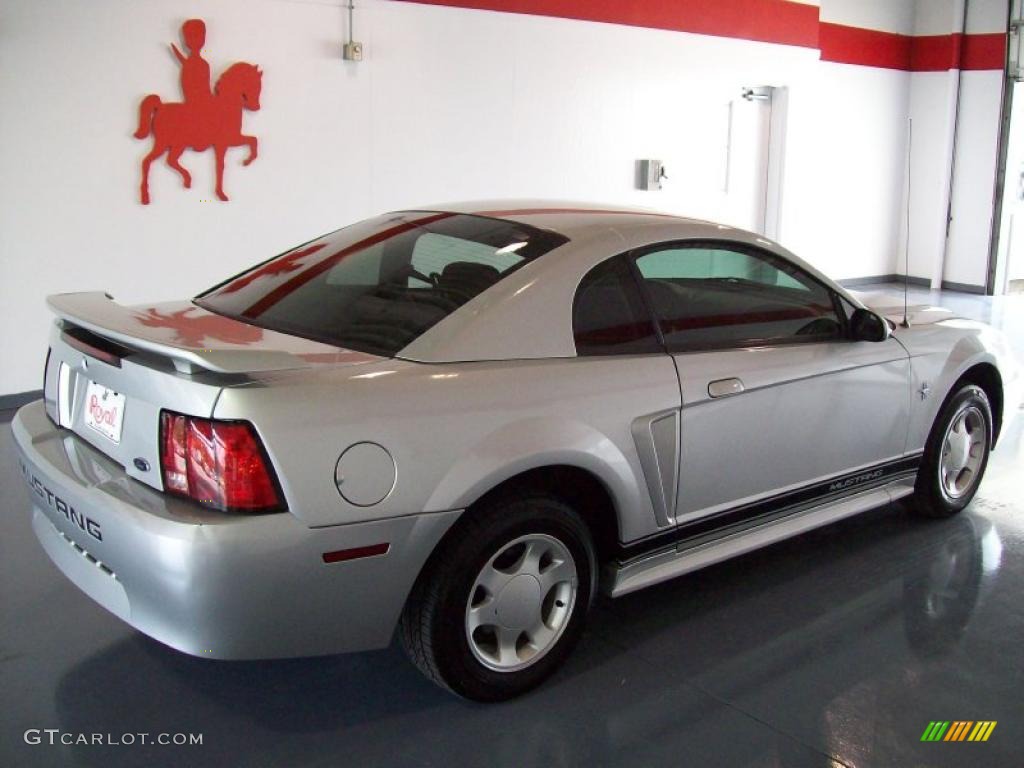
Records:
[[[680,246],[637,266],[670,349],[839,338],[830,292],[768,253]]]

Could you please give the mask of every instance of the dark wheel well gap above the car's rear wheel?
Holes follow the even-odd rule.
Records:
[[[618,516],[611,494],[592,472],[570,465],[538,467],[513,475],[490,488],[469,505],[486,505],[503,496],[520,496],[540,492],[557,497],[569,505],[587,523],[594,540],[599,563],[607,562],[618,546]]]

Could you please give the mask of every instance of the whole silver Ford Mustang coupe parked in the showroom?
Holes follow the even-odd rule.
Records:
[[[870,304],[749,232],[536,202],[380,216],[191,301],[52,296],[45,397],[13,421],[32,524],[185,653],[397,634],[508,698],[599,590],[971,501],[1020,399],[1006,341]]]

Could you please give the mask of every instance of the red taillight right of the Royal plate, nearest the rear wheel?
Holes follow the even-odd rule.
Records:
[[[284,508],[259,437],[248,422],[160,415],[164,489],[225,511]]]

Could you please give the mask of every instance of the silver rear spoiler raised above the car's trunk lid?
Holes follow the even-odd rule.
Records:
[[[199,347],[175,339],[174,329],[146,325],[146,316],[122,306],[101,291],[61,293],[46,297],[49,308],[61,319],[90,331],[97,336],[130,349],[153,352],[170,358],[181,373],[212,371],[219,374],[252,374],[266,371],[289,371],[307,368],[302,357],[280,349],[267,348],[266,341],[278,336],[264,333],[259,346],[234,342],[213,342],[214,346]],[[197,307],[198,311],[200,310]],[[225,323],[236,323],[224,318]]]

